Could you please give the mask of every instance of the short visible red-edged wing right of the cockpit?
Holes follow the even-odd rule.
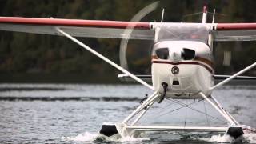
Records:
[[[214,41],[256,41],[256,23],[217,23]]]

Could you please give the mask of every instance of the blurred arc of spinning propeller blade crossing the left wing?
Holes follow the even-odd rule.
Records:
[[[142,10],[140,10],[137,14],[134,15],[133,18],[131,18],[131,22],[139,22],[142,18],[144,18],[147,14],[150,14],[150,12],[154,11],[158,7],[158,2],[153,2],[150,5],[144,7]],[[119,59],[120,59],[120,65],[128,70],[128,64],[127,64],[127,45],[128,41],[130,39],[130,34],[133,32],[134,26],[127,26],[126,30],[124,31],[124,34],[128,36],[127,39],[122,39],[120,43],[120,51],[119,51]]]

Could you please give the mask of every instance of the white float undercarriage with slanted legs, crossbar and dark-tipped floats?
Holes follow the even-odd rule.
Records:
[[[162,86],[167,88],[166,84],[162,84]],[[137,122],[142,118],[142,116],[146,113],[147,110],[150,109],[150,107],[154,104],[154,102],[157,102],[158,99],[165,98],[165,93],[162,95],[163,97],[158,95],[158,91],[155,91],[154,94],[152,94],[149,98],[147,98],[136,110],[134,110],[127,118],[125,118],[122,123],[103,123],[102,129],[100,130],[100,134],[105,135],[106,137],[111,138],[126,138],[127,136],[130,137],[139,137],[140,133],[143,131],[186,131],[186,132],[222,132],[225,134],[230,135],[233,138],[238,138],[244,134],[243,130],[250,130],[250,126],[242,126],[238,122],[234,120],[234,118],[226,111],[223,110],[222,106],[219,105],[218,101],[214,99],[214,97],[211,97],[213,100],[210,100],[210,96],[206,96],[202,92],[199,93],[199,95],[202,96],[202,98],[205,98],[207,102],[210,103],[210,105],[214,106],[216,110],[224,118],[226,118],[226,121],[230,124],[230,126],[157,126],[157,125],[137,125]],[[130,120],[133,119],[133,122]]]

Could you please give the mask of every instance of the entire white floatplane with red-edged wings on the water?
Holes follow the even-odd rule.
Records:
[[[152,6],[155,5],[147,8],[151,7],[152,10]],[[150,10],[144,9],[145,14],[149,12]],[[164,10],[162,20],[163,15]],[[138,14],[137,19],[142,16],[143,14]],[[154,90],[154,93],[122,122],[103,123],[99,133],[106,137],[138,137],[140,132],[144,131],[202,131],[222,132],[238,138],[244,134],[245,130],[253,129],[240,124],[214,98],[212,92],[236,78],[255,79],[240,75],[256,66],[256,62],[234,75],[215,75],[213,42],[255,41],[256,23],[214,23],[214,18],[213,22],[207,23],[206,20],[207,8],[204,6],[200,23],[0,17],[0,30],[64,36],[122,71],[123,74],[119,74],[118,78],[133,79]],[[122,43],[126,43],[129,39],[151,40],[154,42],[151,53],[151,75],[131,74],[123,64],[119,66],[75,37],[121,38],[125,41]],[[150,79],[153,86],[145,79]],[[214,85],[216,79],[224,80]],[[154,102],[161,103],[167,98],[203,99],[226,119],[227,125],[222,127],[138,125],[138,121],[154,105]]]

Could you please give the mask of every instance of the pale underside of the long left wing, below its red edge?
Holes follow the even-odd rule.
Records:
[[[19,25],[19,24],[0,24],[0,30],[17,31],[33,34],[51,34],[62,35],[55,30],[56,26],[38,26],[38,25]],[[123,29],[98,28],[98,27],[80,27],[80,26],[58,26],[66,33],[74,37],[87,38],[130,38],[152,40],[154,35],[151,30],[133,30],[132,34],[124,33]]]

